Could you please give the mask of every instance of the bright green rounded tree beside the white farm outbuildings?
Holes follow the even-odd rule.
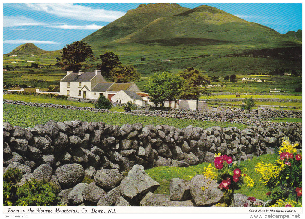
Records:
[[[145,91],[156,106],[164,106],[165,100],[178,98],[183,82],[183,78],[165,71],[152,75],[145,85]]]

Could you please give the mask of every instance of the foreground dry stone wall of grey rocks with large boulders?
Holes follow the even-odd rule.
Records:
[[[301,125],[179,129],[50,120],[23,129],[3,122],[3,171],[21,169],[19,185],[30,178],[56,184],[63,203],[72,206],[211,206],[220,201],[222,193],[217,190],[213,201],[206,194],[196,195],[203,176],[197,177],[201,177],[198,182],[196,177],[193,182],[171,182],[170,196],[153,195],[159,184],[144,168],[213,162],[215,153],[234,160],[251,159],[274,153],[284,136],[302,147]],[[124,171],[128,171],[126,177]],[[84,177],[94,181],[83,183]],[[185,187],[182,194],[177,186]]]

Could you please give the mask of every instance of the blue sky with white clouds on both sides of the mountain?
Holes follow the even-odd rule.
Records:
[[[32,42],[59,50],[118,19],[142,3],[4,3],[3,53]],[[301,3],[178,3],[210,5],[244,20],[286,33],[302,30]]]

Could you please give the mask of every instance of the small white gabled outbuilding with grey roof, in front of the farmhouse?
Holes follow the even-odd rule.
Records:
[[[112,102],[120,102],[120,103],[127,103],[131,101],[132,103],[136,103],[140,106],[144,106],[145,102],[136,92],[134,91],[125,91],[120,90],[115,95],[111,97]]]

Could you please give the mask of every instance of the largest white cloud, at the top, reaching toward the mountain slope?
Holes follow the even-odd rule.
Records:
[[[25,3],[25,5],[35,11],[43,11],[75,20],[111,22],[125,14],[120,11],[92,9],[82,5],[74,5],[73,3]]]

